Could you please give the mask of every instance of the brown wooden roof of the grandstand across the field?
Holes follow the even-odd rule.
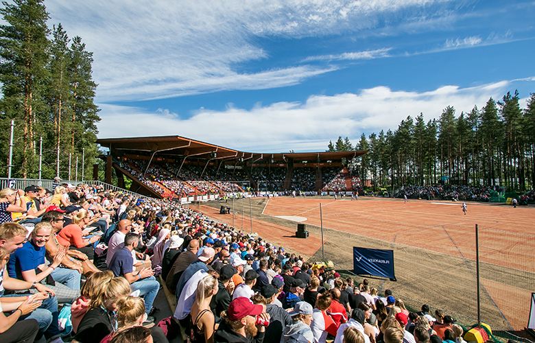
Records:
[[[156,136],[156,137],[125,137],[97,139],[97,143],[110,150],[123,150],[128,152],[150,152],[169,157],[193,157],[209,160],[234,160],[241,158],[243,161],[252,159],[252,162],[262,160],[286,161],[292,158],[294,161],[340,161],[342,158],[351,158],[366,154],[367,151],[352,152],[242,152],[229,149],[211,143],[195,141],[180,136]]]

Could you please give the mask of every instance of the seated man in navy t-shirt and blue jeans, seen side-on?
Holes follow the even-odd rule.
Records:
[[[108,269],[113,272],[115,276],[123,276],[133,290],[139,290],[140,296],[145,299],[145,311],[147,314],[151,312],[152,303],[160,289],[160,283],[154,278],[154,272],[150,268],[144,268],[139,272],[134,273],[134,258],[132,257],[132,250],[139,244],[139,235],[136,233],[127,233],[124,237],[124,248],[118,250],[113,254],[113,257],[108,265]],[[148,321],[154,321],[154,318],[147,318]]]

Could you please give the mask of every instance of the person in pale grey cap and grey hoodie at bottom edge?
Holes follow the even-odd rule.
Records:
[[[312,322],[312,306],[305,301],[296,304],[293,311],[289,312],[294,324],[288,325],[283,331],[281,343],[287,342],[314,342],[314,335],[310,329]]]

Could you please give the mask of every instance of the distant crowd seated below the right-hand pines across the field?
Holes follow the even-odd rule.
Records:
[[[442,200],[472,200],[488,202],[491,192],[496,192],[495,187],[490,186],[464,186],[464,185],[423,185],[405,186],[395,198],[407,196],[409,199],[442,199]]]

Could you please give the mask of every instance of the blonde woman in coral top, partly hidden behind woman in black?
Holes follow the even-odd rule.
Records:
[[[73,333],[78,331],[78,324],[80,320],[84,318],[87,310],[89,309],[89,303],[94,294],[103,292],[106,284],[113,279],[113,272],[106,270],[104,272],[96,272],[91,274],[86,279],[82,288],[80,288],[80,297],[76,299],[71,306],[71,320],[73,322]]]

